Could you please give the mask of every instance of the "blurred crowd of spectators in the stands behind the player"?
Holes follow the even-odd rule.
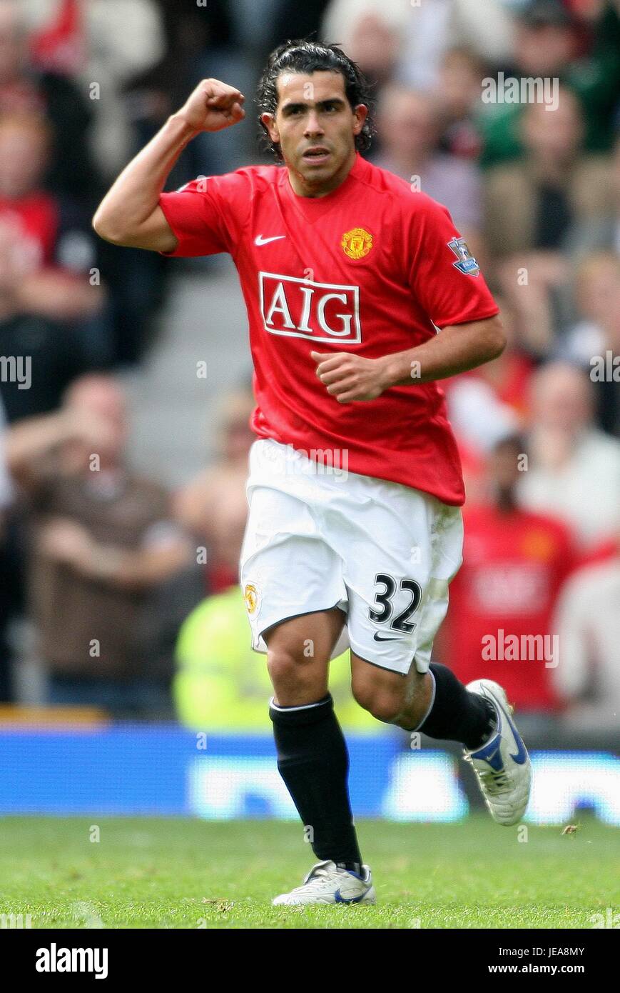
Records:
[[[0,0],[0,702],[28,698],[36,659],[40,702],[265,725],[236,585],[251,388],[221,397],[187,485],[134,473],[118,373],[196,263],[112,247],[90,217],[203,76],[247,94],[246,122],[199,136],[167,189],[269,162],[251,94],[309,35],[372,81],[369,158],[448,208],[508,336],[442,384],[467,503],[436,655],[533,726],[617,729],[620,0]],[[547,103],[513,98],[523,79]],[[344,661],[333,689],[345,725],[379,727]]]

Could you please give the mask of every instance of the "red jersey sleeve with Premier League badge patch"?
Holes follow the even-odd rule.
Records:
[[[483,321],[499,313],[476,259],[445,207],[424,197],[409,213],[406,245],[409,285],[435,327]]]

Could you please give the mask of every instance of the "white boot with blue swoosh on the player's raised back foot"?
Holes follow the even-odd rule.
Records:
[[[475,679],[465,688],[490,700],[497,712],[495,731],[481,748],[465,750],[465,761],[474,768],[493,820],[506,826],[516,824],[530,798],[532,766],[512,720],[513,708],[502,687],[492,679]]]

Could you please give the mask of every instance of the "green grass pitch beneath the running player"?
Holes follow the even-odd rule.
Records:
[[[377,906],[299,909],[270,905],[315,861],[294,823],[3,817],[0,915],[33,928],[588,928],[618,912],[620,831],[593,818],[521,842],[483,815],[358,831]]]

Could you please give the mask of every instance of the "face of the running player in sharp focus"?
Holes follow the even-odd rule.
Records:
[[[320,197],[346,178],[368,109],[351,107],[339,72],[283,73],[277,85],[278,109],[263,123],[280,143],[296,193]]]

